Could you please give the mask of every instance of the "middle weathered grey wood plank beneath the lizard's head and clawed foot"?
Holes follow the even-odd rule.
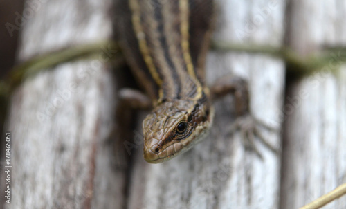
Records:
[[[218,3],[215,39],[281,45],[284,1]],[[282,105],[284,64],[261,55],[210,52],[208,83],[229,73],[249,81],[253,114],[280,129],[276,114]],[[239,133],[229,136],[234,121],[230,96],[217,102],[215,109],[210,136],[189,152],[159,165],[145,163],[141,149],[133,153],[129,208],[278,208],[280,156],[256,141],[262,161],[244,150]],[[280,147],[278,132],[261,131]]]

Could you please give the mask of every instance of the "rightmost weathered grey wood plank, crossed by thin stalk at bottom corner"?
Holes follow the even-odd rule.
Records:
[[[345,46],[345,1],[290,1],[288,11],[288,45],[300,55]],[[280,208],[299,208],[346,182],[345,69],[332,58],[321,72],[289,85]],[[345,207],[346,197],[325,206]]]

